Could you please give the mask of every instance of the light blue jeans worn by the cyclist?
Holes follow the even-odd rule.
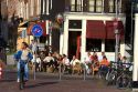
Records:
[[[17,64],[18,68],[18,79],[20,79],[20,64],[24,65],[24,80],[29,80],[29,68],[28,68],[28,63],[25,63],[25,61],[20,60]]]

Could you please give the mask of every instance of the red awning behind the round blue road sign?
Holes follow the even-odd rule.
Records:
[[[31,23],[29,25],[29,28],[28,28],[28,35],[32,35],[31,30],[32,30],[32,28],[33,28],[34,24],[41,25],[42,29],[43,29],[43,35],[46,35],[46,25],[45,25],[45,22]]]

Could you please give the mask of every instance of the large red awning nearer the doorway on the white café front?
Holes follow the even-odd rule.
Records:
[[[105,39],[105,24],[104,21],[88,20],[86,28],[86,38],[88,39]]]

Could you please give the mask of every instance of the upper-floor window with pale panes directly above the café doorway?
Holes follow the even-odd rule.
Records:
[[[83,11],[83,0],[71,0],[71,11]]]

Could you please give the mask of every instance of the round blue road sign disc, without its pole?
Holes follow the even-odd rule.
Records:
[[[34,24],[31,32],[34,37],[41,37],[43,34],[43,29],[41,25]]]

